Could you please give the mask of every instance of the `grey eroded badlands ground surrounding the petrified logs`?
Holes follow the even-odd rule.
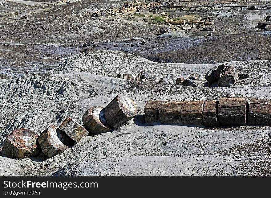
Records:
[[[90,106],[105,107],[119,93],[139,107],[136,117],[116,130],[85,136],[53,158],[0,157],[0,176],[270,176],[269,126],[146,125],[143,110],[148,100],[271,99],[271,29],[257,28],[271,26],[265,20],[271,9],[150,12],[148,5],[160,1],[142,1],[131,4],[144,4],[142,10],[120,11],[126,3],[131,2],[0,0],[0,148],[16,128],[41,134],[67,116],[83,124]],[[271,8],[270,1],[258,0],[173,4]],[[103,10],[104,16],[91,17]],[[169,23],[181,20],[210,25]],[[160,34],[164,27],[171,32]],[[164,75],[187,79],[192,73],[205,80],[221,63],[246,78],[231,87],[158,82]],[[136,77],[143,70],[153,72],[156,81],[115,77]]]

